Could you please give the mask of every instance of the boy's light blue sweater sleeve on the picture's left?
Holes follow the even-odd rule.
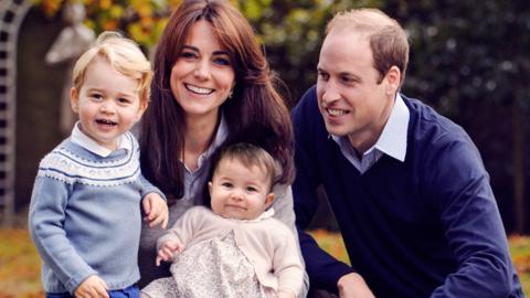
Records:
[[[41,258],[73,294],[88,276],[97,274],[77,254],[63,227],[72,185],[38,177],[31,195],[29,230]]]

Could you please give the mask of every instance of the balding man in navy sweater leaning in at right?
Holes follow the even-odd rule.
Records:
[[[316,88],[293,110],[295,211],[311,285],[340,297],[523,297],[467,134],[399,93],[409,61],[379,10],[328,24]],[[324,185],[351,267],[301,232]]]

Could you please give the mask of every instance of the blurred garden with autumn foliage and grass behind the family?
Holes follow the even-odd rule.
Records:
[[[411,62],[403,92],[463,126],[477,145],[510,235],[512,257],[530,287],[530,4],[526,0],[232,0],[253,23],[290,106],[316,79],[325,23],[337,10],[380,8],[406,29]],[[12,142],[12,170],[0,168],[0,298],[41,297],[39,258],[25,232],[25,211],[39,160],[64,137],[61,92],[70,61],[44,57],[65,28],[66,7],[81,3],[82,25],[119,30],[148,55],[179,0],[0,0],[0,149]],[[23,13],[19,13],[21,8]],[[19,13],[19,14],[17,14]],[[21,15],[23,14],[23,15]],[[20,19],[20,22],[13,20]],[[13,29],[13,26],[15,26]],[[2,47],[15,32],[15,55]],[[2,61],[6,64],[2,64]],[[11,63],[11,64],[10,64]],[[14,65],[8,67],[6,65]],[[13,71],[17,70],[17,71]],[[6,78],[7,77],[7,78]],[[6,87],[3,87],[3,85]],[[13,102],[3,104],[14,89]],[[11,103],[11,104],[10,104]],[[13,117],[2,120],[4,109]],[[1,151],[1,150],[0,150]],[[0,166],[9,159],[0,152]],[[6,177],[12,191],[4,191]],[[8,188],[6,188],[8,189]],[[10,200],[8,194],[12,193]],[[315,220],[318,238],[346,259],[329,210]]]

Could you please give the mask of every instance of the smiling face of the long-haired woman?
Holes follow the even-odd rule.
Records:
[[[187,119],[218,120],[219,107],[235,84],[232,63],[209,22],[201,20],[190,28],[170,78],[173,97]]]

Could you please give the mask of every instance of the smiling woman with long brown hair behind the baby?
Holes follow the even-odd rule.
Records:
[[[211,159],[221,147],[251,142],[283,167],[275,217],[295,230],[293,129],[268,64],[246,19],[223,0],[186,0],[171,14],[155,56],[151,104],[141,126],[141,170],[168,196],[169,224],[206,204]],[[155,266],[160,230],[144,226],[140,287],[169,276]],[[306,278],[307,288],[307,278]]]

